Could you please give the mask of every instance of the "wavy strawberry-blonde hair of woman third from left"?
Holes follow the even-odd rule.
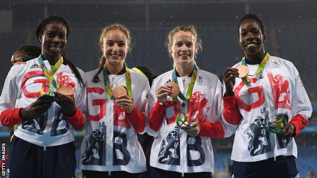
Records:
[[[195,38],[195,45],[198,46],[198,49],[197,49],[197,53],[198,51],[201,51],[203,49],[202,47],[202,41],[201,39],[198,37],[198,34],[197,34],[197,30],[196,28],[193,26],[193,25],[189,25],[189,26],[176,26],[175,28],[173,28],[167,35],[167,41],[166,41],[166,46],[168,47],[168,45],[171,45],[173,46],[173,40],[174,40],[174,35],[175,33],[177,33],[178,31],[189,31],[191,32],[193,35],[194,35],[194,38]],[[195,54],[195,58],[196,58],[196,55],[197,53]],[[172,55],[169,53],[169,56],[173,59]],[[194,59],[194,64],[196,65],[196,61]],[[176,64],[175,62],[173,62],[173,67],[175,68],[176,67]]]

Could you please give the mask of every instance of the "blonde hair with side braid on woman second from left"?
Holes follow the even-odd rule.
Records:
[[[100,38],[99,38],[99,43],[100,43],[100,46],[103,44],[104,42],[104,38],[106,37],[106,34],[108,31],[111,31],[111,30],[116,30],[116,29],[119,29],[121,30],[125,36],[126,36],[126,39],[128,40],[128,54],[131,53],[131,50],[132,50],[132,45],[131,45],[131,42],[132,42],[132,37],[131,37],[131,33],[130,33],[130,30],[128,28],[126,28],[126,26],[120,24],[120,23],[114,23],[112,25],[109,25],[109,26],[106,26],[102,32],[100,33]],[[94,83],[98,83],[98,75],[101,73],[101,71],[104,69],[104,66],[105,66],[105,63],[106,63],[106,57],[104,55],[102,55],[102,57],[99,59],[99,63],[100,63],[100,67],[99,67],[99,70],[98,70],[98,73],[93,77],[93,80],[92,82]]]

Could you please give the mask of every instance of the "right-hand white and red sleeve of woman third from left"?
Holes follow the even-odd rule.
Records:
[[[223,108],[222,101],[223,85],[217,79],[216,90],[214,91],[214,97],[212,99],[212,107],[210,108],[210,117],[207,122],[199,123],[201,130],[199,136],[208,136],[213,138],[223,138],[232,135],[232,131],[224,124],[221,117]],[[208,122],[208,120],[215,120],[215,122]]]

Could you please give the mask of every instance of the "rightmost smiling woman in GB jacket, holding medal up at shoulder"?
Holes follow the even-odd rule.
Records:
[[[232,177],[299,177],[294,136],[312,108],[298,71],[265,52],[256,14],[241,18],[238,34],[244,57],[224,74],[224,118],[235,132]]]

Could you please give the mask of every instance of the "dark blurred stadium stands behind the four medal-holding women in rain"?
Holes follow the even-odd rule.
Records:
[[[267,52],[292,61],[299,70],[313,115],[296,137],[298,169],[301,177],[317,177],[317,2],[313,0],[1,0],[0,91],[11,67],[11,55],[24,44],[40,46],[35,28],[39,19],[49,14],[69,22],[66,54],[85,72],[98,67],[99,34],[106,25],[119,22],[131,29],[134,47],[126,60],[130,67],[147,65],[160,75],[172,66],[165,47],[168,31],[176,25],[193,24],[203,41],[198,66],[222,80],[224,70],[242,57],[237,25],[248,12],[260,14],[264,21]],[[76,135],[79,148],[83,134]],[[7,128],[0,128],[1,141],[8,143],[8,137]],[[231,177],[233,136],[212,141],[214,177]]]

